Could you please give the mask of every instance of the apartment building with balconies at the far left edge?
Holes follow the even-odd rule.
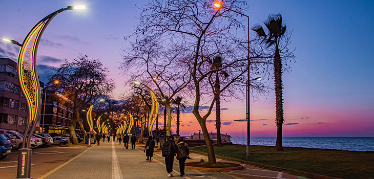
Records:
[[[17,63],[9,58],[0,58],[0,128],[24,132],[27,121],[27,103],[19,88]],[[44,83],[40,82],[40,87]],[[39,131],[39,122],[35,131]]]

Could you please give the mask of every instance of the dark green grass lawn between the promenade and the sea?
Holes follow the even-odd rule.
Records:
[[[205,147],[191,151],[206,153]],[[245,159],[245,145],[214,146],[216,155],[262,165],[298,170],[339,178],[374,178],[374,152],[339,151],[284,147],[251,146],[250,159]]]

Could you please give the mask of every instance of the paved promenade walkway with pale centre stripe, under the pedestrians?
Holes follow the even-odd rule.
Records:
[[[161,153],[155,150],[152,162],[146,161],[146,155],[143,153],[143,148],[140,148],[141,146],[143,145],[138,145],[136,149],[132,150],[131,146],[126,149],[123,144],[118,145],[117,141],[100,143],[100,146],[88,147],[75,158],[39,178],[168,178]],[[204,155],[192,153],[190,156],[192,160],[186,162],[199,161],[200,159],[207,161]],[[218,160],[218,162],[224,161]],[[222,172],[186,169],[186,175],[180,177],[178,161],[175,160],[173,178],[304,178],[248,165],[244,165],[244,167],[243,170]]]

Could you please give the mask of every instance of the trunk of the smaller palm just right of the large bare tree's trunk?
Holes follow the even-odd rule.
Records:
[[[218,73],[216,73],[216,80],[214,85],[216,98],[216,129],[217,129],[217,146],[222,146],[221,140],[221,101],[220,101],[220,81]]]

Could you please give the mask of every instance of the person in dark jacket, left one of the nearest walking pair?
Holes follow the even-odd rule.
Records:
[[[178,153],[178,147],[175,145],[173,137],[167,136],[167,141],[162,145],[162,156],[165,158],[166,171],[168,177],[173,176],[173,162],[175,153]]]

